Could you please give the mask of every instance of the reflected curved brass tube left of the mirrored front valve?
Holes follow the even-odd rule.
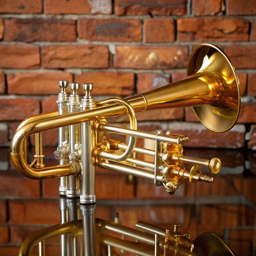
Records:
[[[58,236],[59,234],[78,235],[81,233],[82,228],[82,222],[79,220],[54,225],[52,227],[47,227],[46,229],[37,231],[22,243],[18,256],[30,256],[32,248],[42,240]]]

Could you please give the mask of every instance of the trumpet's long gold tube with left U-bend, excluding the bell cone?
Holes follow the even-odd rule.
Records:
[[[144,103],[144,99],[143,97],[137,97],[136,99],[137,100],[132,100],[133,106],[136,110],[141,110],[141,104]],[[80,172],[80,168],[78,165],[73,163],[44,167],[40,169],[31,168],[24,159],[23,144],[25,139],[29,135],[36,132],[43,132],[54,128],[60,128],[62,126],[80,124],[84,121],[90,121],[95,118],[109,117],[113,115],[113,112],[117,114],[124,114],[126,112],[126,108],[122,105],[114,104],[65,115],[55,116],[58,112],[51,112],[44,114],[44,119],[34,117],[32,119],[36,121],[31,121],[28,123],[25,121],[24,125],[20,125],[20,129],[16,131],[11,141],[11,160],[14,166],[22,175],[32,179],[43,179],[48,177],[60,177],[78,174]]]

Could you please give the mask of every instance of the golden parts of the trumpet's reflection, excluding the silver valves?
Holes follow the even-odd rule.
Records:
[[[172,229],[163,229],[139,221],[136,224],[137,229],[132,229],[98,218],[95,219],[94,225],[97,248],[95,256],[116,255],[114,249],[121,249],[124,252],[136,255],[155,256],[156,246],[158,254],[166,256],[234,256],[232,250],[216,234],[206,232],[196,238],[195,241],[191,241],[190,234],[180,232],[180,225],[174,225]],[[33,247],[42,240],[60,235],[72,235],[78,238],[81,234],[83,234],[82,220],[45,228],[29,236],[22,243],[18,256],[29,256]],[[126,236],[129,239],[120,239],[119,235]],[[155,244],[155,235],[158,236],[157,245]],[[110,254],[106,254],[106,247],[111,247],[108,250]],[[209,250],[209,248],[211,249]]]

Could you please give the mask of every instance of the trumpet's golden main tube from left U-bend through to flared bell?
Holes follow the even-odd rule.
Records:
[[[191,54],[187,71],[186,79],[132,97],[127,102],[135,112],[193,106],[198,119],[210,130],[225,132],[231,129],[240,111],[240,89],[236,71],[224,52],[210,44],[199,45]],[[20,124],[11,142],[13,164],[20,173],[32,179],[76,175],[80,171],[76,164],[29,167],[22,149],[25,139],[33,133],[126,112],[125,106],[113,103],[66,115],[56,116],[56,112],[51,112],[30,117]]]

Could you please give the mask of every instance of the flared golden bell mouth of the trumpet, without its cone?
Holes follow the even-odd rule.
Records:
[[[193,49],[187,64],[188,76],[200,72],[216,76],[222,95],[213,105],[193,106],[193,112],[209,130],[226,132],[236,124],[240,113],[240,87],[234,66],[220,48],[204,43]]]

